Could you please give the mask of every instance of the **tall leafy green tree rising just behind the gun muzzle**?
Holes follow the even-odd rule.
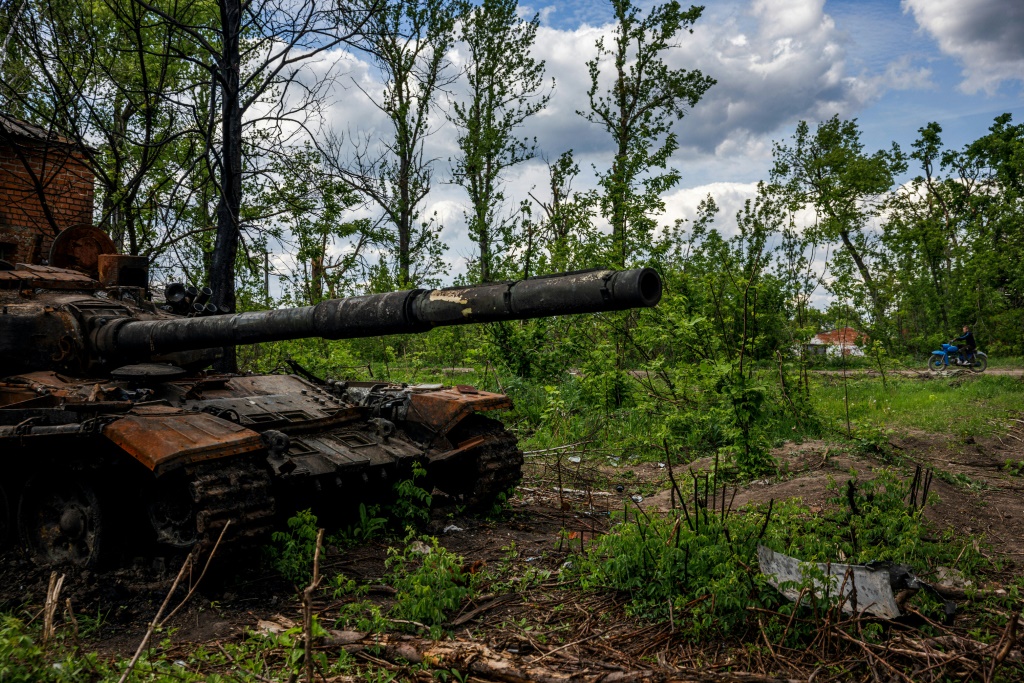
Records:
[[[615,28],[611,47],[597,41],[597,57],[587,62],[590,110],[578,112],[611,136],[614,158],[600,176],[601,209],[611,223],[610,265],[626,267],[634,251],[650,244],[652,214],[664,210],[662,195],[679,182],[668,168],[679,147],[673,124],[700,100],[715,79],[699,71],[671,69],[664,54],[681,33],[692,33],[703,7],[683,11],[673,0],[641,16],[632,0],[611,0]],[[605,58],[612,62],[612,83],[601,90]],[[664,173],[652,173],[665,169]]]

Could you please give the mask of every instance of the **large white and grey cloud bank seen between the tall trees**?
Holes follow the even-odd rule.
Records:
[[[607,168],[612,147],[608,134],[577,111],[588,109],[586,61],[596,54],[599,37],[610,39],[612,27],[580,22],[572,29],[554,28],[546,24],[550,9],[541,8],[545,24],[538,32],[535,56],[546,61],[557,86],[548,108],[530,119],[521,134],[536,136],[547,159],[574,150],[581,166],[577,188],[585,189],[595,184],[593,168]],[[890,63],[884,74],[850,73],[848,45],[823,0],[737,0],[707,10],[694,33],[681,36],[679,47],[667,56],[671,66],[699,69],[718,84],[678,127],[683,146],[672,165],[682,172],[684,186],[695,186],[669,195],[659,222],[692,219],[699,201],[711,193],[721,208],[716,223],[732,233],[736,210],[754,195],[754,181],[767,175],[773,137],[788,134],[800,119],[854,116],[889,89],[930,87],[930,71],[905,58]],[[348,136],[386,136],[390,124],[370,99],[382,92],[377,70],[340,50],[332,56],[345,75],[333,90],[326,123]],[[325,60],[314,69],[330,67],[331,60]],[[435,123],[426,157],[437,160],[436,181],[424,215],[438,211],[445,227],[442,239],[450,246],[444,259],[455,266],[454,273],[462,270],[461,263],[474,249],[463,219],[465,193],[445,182],[447,160],[457,152],[455,131],[440,113]],[[506,179],[510,205],[526,199],[534,188],[546,195],[547,169],[540,160],[513,169]]]

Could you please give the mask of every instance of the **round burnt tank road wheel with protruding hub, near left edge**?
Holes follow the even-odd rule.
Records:
[[[17,525],[29,552],[41,564],[87,567],[99,560],[102,514],[87,481],[33,478],[22,493]]]

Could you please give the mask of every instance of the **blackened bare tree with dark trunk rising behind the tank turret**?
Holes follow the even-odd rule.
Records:
[[[187,39],[185,47],[169,45],[170,53],[206,75],[209,110],[194,110],[195,118],[206,122],[203,157],[217,193],[209,282],[214,303],[234,310],[244,179],[259,171],[254,168],[258,158],[265,159],[269,152],[287,153],[288,130],[304,130],[315,114],[329,79],[308,78],[303,67],[325,51],[356,40],[378,2],[216,0],[215,11],[210,11],[208,0],[174,3],[173,11],[156,0],[134,2],[181,32]],[[257,104],[261,113],[251,116]],[[268,142],[271,147],[254,145],[247,155],[247,130],[261,130],[262,135],[250,142]],[[234,367],[232,350],[220,369]]]

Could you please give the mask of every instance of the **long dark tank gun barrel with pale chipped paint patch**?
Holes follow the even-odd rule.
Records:
[[[95,331],[106,356],[148,356],[306,337],[351,339],[434,327],[595,313],[653,306],[662,279],[651,268],[586,270],[442,290],[403,290],[314,306],[167,321],[124,319]]]

